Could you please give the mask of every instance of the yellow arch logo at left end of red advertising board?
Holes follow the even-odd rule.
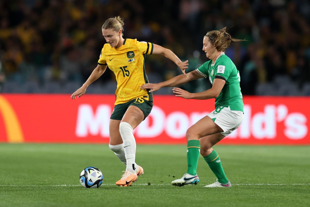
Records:
[[[17,115],[7,99],[0,95],[0,112],[4,120],[8,142],[24,142],[24,136]]]

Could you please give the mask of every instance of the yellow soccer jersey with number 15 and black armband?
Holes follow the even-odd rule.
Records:
[[[121,47],[104,44],[101,50],[99,65],[108,65],[116,76],[117,89],[115,105],[126,103],[135,98],[153,101],[153,94],[140,89],[148,83],[145,73],[145,55],[152,54],[153,43],[139,42],[137,39],[125,39]]]

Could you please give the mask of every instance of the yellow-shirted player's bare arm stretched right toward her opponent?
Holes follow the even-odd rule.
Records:
[[[152,54],[158,54],[163,55],[166,58],[169,58],[172,60],[178,67],[181,69],[182,73],[185,74],[185,69],[188,68],[188,60],[182,62],[178,56],[176,56],[171,50],[162,47],[157,44],[153,44],[153,53]]]

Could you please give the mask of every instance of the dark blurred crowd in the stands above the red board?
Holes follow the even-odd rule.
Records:
[[[247,40],[226,51],[243,94],[310,95],[308,0],[0,0],[0,11],[0,92],[74,92],[97,65],[104,21],[121,16],[124,38],[171,49],[189,60],[188,71],[208,60],[207,31],[226,26],[233,38]],[[153,83],[181,74],[162,56],[147,56],[145,64]],[[115,92],[109,70],[93,84],[93,93]],[[183,86],[210,87],[208,79]]]

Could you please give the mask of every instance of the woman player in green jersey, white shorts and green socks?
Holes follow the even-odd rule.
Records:
[[[231,41],[242,40],[231,38],[230,34],[226,32],[226,27],[208,32],[203,38],[202,50],[210,61],[190,73],[176,76],[162,83],[145,83],[140,87],[141,89],[151,89],[149,92],[154,92],[162,87],[178,86],[200,78],[209,78],[212,84],[212,88],[200,93],[189,93],[180,88],[172,89],[175,96],[186,99],[215,98],[215,110],[200,119],[186,132],[188,170],[182,178],[171,182],[175,186],[199,182],[196,170],[200,152],[217,178],[215,183],[205,187],[231,187],[219,155],[212,148],[238,128],[243,119],[239,71],[224,53]]]

